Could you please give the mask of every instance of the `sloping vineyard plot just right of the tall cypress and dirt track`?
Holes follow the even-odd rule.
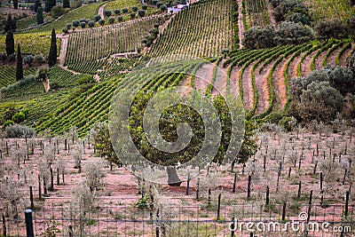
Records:
[[[134,52],[144,47],[154,24],[162,24],[168,15],[123,22],[114,26],[92,28],[69,36],[65,64],[104,59],[116,53]],[[92,73],[92,71],[91,71]]]

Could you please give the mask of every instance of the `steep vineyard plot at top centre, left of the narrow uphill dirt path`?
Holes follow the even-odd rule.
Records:
[[[186,54],[201,58],[222,55],[233,50],[237,29],[233,28],[232,0],[201,1],[171,19],[162,36],[149,52],[152,57]]]

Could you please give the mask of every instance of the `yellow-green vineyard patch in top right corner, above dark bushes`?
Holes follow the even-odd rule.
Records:
[[[347,20],[355,14],[355,8],[350,1],[304,0],[312,12],[315,25],[319,20]]]

